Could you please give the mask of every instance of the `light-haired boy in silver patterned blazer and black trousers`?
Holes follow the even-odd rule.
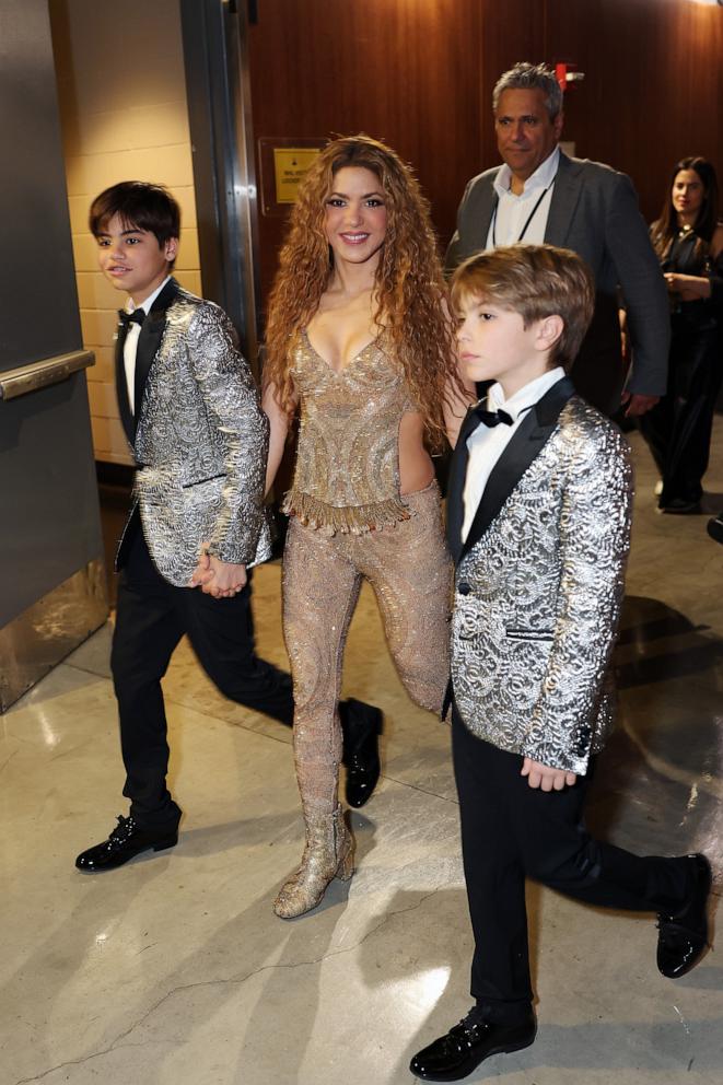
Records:
[[[583,822],[613,716],[632,501],[625,440],[565,375],[592,315],[592,276],[569,250],[515,245],[463,264],[452,296],[463,371],[488,393],[463,423],[447,498],[475,1006],[410,1065],[443,1082],[535,1039],[525,877],[657,912],[657,964],[670,978],[705,949],[711,887],[704,856],[639,858]]]

